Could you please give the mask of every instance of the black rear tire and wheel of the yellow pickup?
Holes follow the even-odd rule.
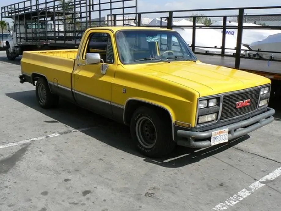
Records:
[[[53,95],[47,80],[40,77],[36,83],[36,99],[42,108],[53,108],[57,107],[60,97]]]

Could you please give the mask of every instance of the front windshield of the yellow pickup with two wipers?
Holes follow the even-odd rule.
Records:
[[[116,33],[116,44],[123,64],[196,60],[177,32],[121,30]]]

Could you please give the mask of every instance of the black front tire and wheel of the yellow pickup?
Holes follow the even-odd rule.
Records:
[[[148,129],[151,130],[151,133]],[[176,146],[175,141],[173,141],[170,120],[163,119],[161,112],[151,108],[140,107],[133,113],[130,130],[137,149],[145,156],[162,157],[171,153]],[[153,133],[153,131],[156,131],[156,133]],[[144,140],[144,134],[146,138],[151,139]]]

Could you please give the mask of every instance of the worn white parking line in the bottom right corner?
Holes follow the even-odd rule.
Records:
[[[260,189],[261,187],[265,186],[266,181],[274,180],[281,175],[281,167],[277,168],[275,171],[272,171],[270,174],[264,176],[263,178],[257,180],[256,182],[252,183],[248,188],[239,191],[237,194],[230,197],[224,203],[220,203],[215,206],[214,210],[226,210],[229,206],[233,206],[238,202],[242,201],[247,196],[250,196],[254,191]]]

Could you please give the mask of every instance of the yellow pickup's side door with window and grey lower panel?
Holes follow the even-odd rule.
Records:
[[[111,117],[111,86],[117,66],[113,33],[109,30],[91,30],[81,49],[72,83],[76,102],[100,115]],[[99,53],[99,64],[86,64],[86,53]]]

